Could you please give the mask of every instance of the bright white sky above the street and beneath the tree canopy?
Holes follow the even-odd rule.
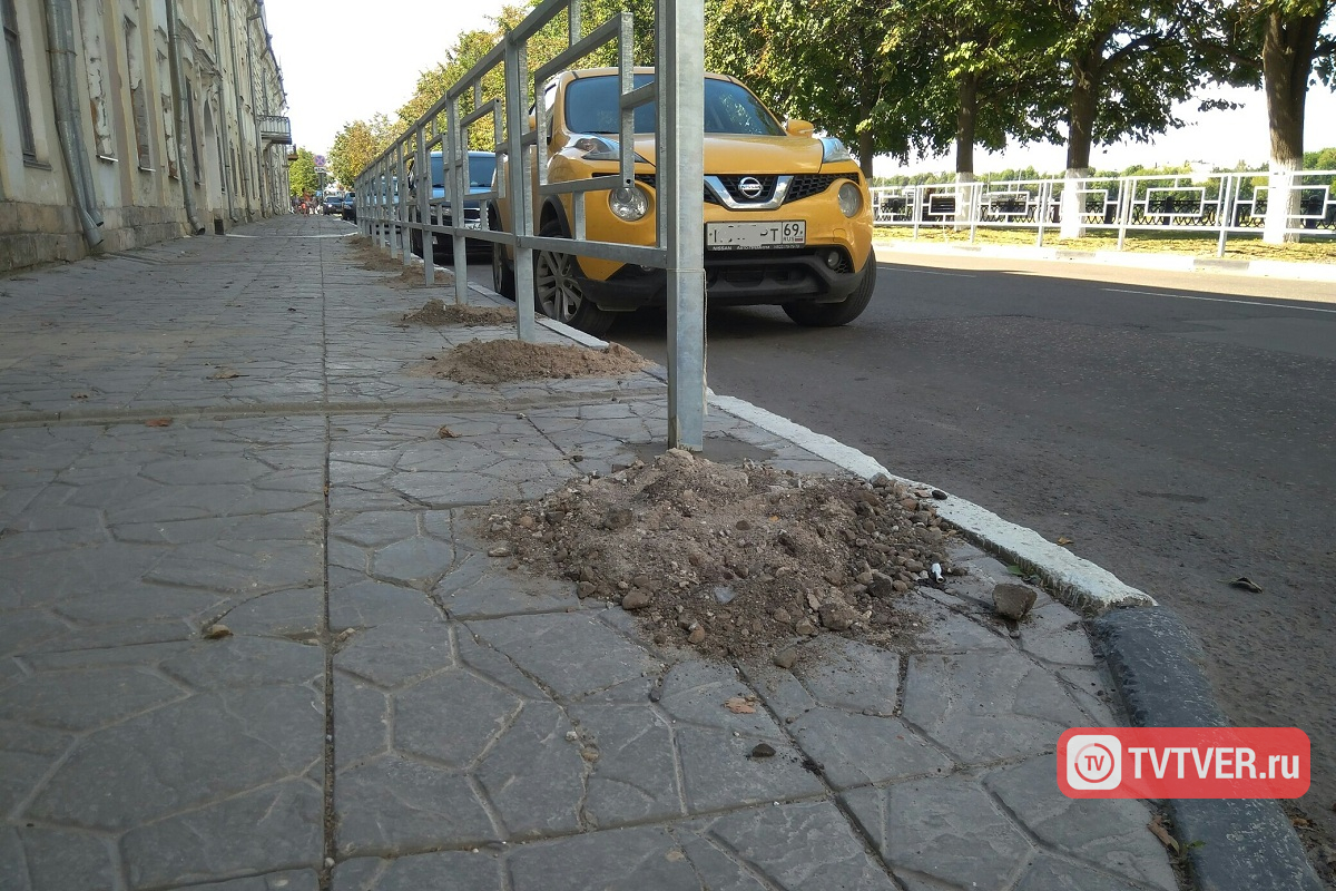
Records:
[[[516,0],[510,0],[514,3]],[[418,75],[445,61],[446,52],[466,31],[489,27],[505,0],[265,0],[274,52],[283,72],[293,139],[317,155],[326,154],[345,124],[394,112],[413,95]],[[369,8],[375,15],[369,15]],[[1132,164],[1206,162],[1232,167],[1244,160],[1265,167],[1269,155],[1267,103],[1261,91],[1230,91],[1241,102],[1236,111],[1198,112],[1196,103],[1178,108],[1189,124],[1152,143],[1096,147],[1090,163],[1100,170]],[[1304,147],[1336,146],[1336,95],[1324,87],[1308,92]],[[1003,152],[974,152],[978,174],[1033,166],[1061,172],[1062,146],[1011,147]],[[878,176],[898,172],[947,171],[953,155],[902,166],[891,158],[874,164]]]

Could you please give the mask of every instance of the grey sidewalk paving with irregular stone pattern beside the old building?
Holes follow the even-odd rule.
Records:
[[[1177,887],[1146,806],[1058,792],[1109,681],[1065,606],[993,618],[982,552],[906,598],[912,652],[792,672],[489,558],[468,508],[663,448],[665,387],[409,374],[513,334],[397,325],[445,294],[347,231],[0,279],[0,888]],[[724,411],[707,437],[836,470]]]

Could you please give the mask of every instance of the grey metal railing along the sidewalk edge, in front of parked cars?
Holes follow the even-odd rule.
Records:
[[[454,256],[454,299],[468,302],[466,238],[492,243],[493,250],[509,247],[514,256],[517,335],[534,341],[534,251],[569,252],[570,239],[542,238],[534,234],[534,210],[556,195],[570,195],[572,236],[580,242],[580,255],[597,259],[632,262],[664,269],[668,273],[668,445],[699,450],[703,446],[705,403],[705,334],[704,334],[704,211],[699,183],[704,179],[704,0],[656,0],[655,4],[655,79],[633,88],[631,13],[623,12],[584,35],[580,0],[544,0],[518,27],[484,56],[457,83],[452,84],[417,122],[373,160],[357,179],[357,219],[365,235],[413,263],[410,246],[421,239],[424,279],[434,281],[432,235],[452,236]],[[529,76],[529,44],[549,23],[566,17],[566,48]],[[542,95],[548,79],[577,67],[600,48],[613,44],[621,84],[621,122],[619,140],[620,170],[613,176],[599,176],[572,183],[546,182],[548,110]],[[504,95],[486,98],[484,79],[504,72]],[[464,99],[472,96],[470,110]],[[656,102],[656,211],[657,242],[632,246],[595,242],[585,236],[585,195],[592,191],[635,184],[635,144],[631,138],[635,108]],[[470,138],[481,140],[496,152],[498,170],[505,164],[505,178],[497,178],[490,191],[469,191],[468,150]],[[433,196],[430,188],[430,155],[442,154],[445,166],[444,195]],[[409,159],[417,176],[426,178],[426,188],[417,188],[414,204],[407,200]],[[679,183],[691,187],[683,191]],[[501,230],[472,228],[462,212],[465,200],[484,207],[506,198],[509,219]],[[401,200],[402,199],[402,200]],[[449,218],[444,208],[460,208]],[[502,231],[504,230],[504,231]],[[414,235],[417,238],[414,238]]]

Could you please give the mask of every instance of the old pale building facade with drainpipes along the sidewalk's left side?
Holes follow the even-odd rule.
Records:
[[[0,271],[289,212],[263,0],[0,0]]]

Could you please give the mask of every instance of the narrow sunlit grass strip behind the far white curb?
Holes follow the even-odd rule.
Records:
[[[907,242],[912,239],[912,228],[908,226],[882,226],[874,230],[874,236],[878,239]],[[949,226],[922,226],[919,227],[918,240],[929,244],[969,244],[970,230],[969,227],[954,230]],[[1217,240],[1218,236],[1212,232],[1128,232],[1122,250],[1137,254],[1181,254],[1184,256],[1217,259]],[[1035,230],[989,228],[981,226],[975,230],[974,243],[1034,246]],[[1118,234],[1101,230],[1090,232],[1083,238],[1058,238],[1057,228],[1046,228],[1043,232],[1043,246],[1075,251],[1116,251],[1118,250]],[[1336,263],[1336,236],[1305,235],[1301,240],[1288,244],[1264,244],[1261,232],[1246,235],[1230,234],[1229,240],[1225,242],[1224,259]]]

